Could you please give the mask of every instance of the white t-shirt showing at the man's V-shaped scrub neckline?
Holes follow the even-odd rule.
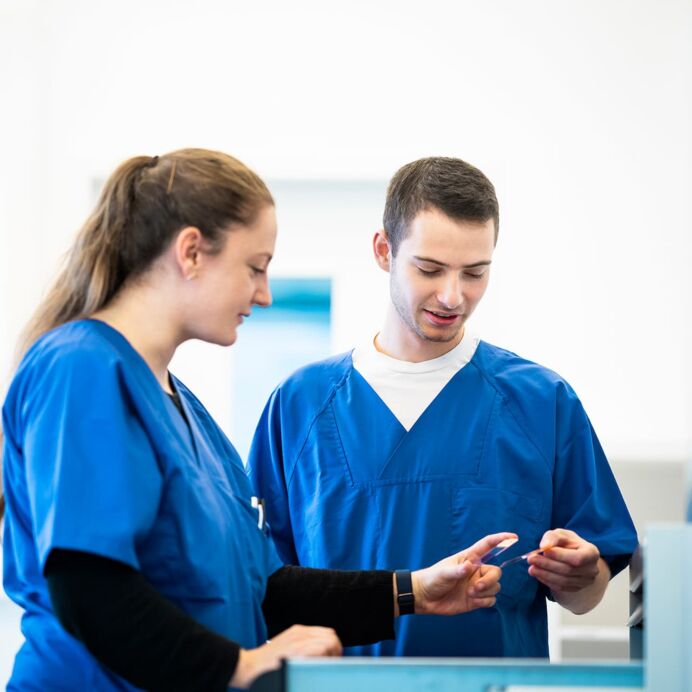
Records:
[[[353,367],[377,392],[406,430],[420,418],[444,386],[473,358],[479,339],[462,340],[439,358],[409,363],[375,348],[375,339],[353,351]]]

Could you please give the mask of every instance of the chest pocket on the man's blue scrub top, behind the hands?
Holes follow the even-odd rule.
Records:
[[[456,488],[452,493],[452,551],[462,550],[490,533],[513,531],[519,542],[493,560],[521,555],[538,547],[543,535],[542,501],[507,490],[487,487]],[[511,551],[511,554],[510,554]],[[536,597],[539,582],[528,574],[524,560],[503,570],[498,607],[526,606]]]

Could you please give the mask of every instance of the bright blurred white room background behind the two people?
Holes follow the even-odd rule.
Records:
[[[0,79],[1,393],[110,171],[221,149],[275,194],[275,306],[232,349],[186,344],[172,371],[245,454],[282,377],[377,331],[388,178],[458,156],[501,209],[471,330],[570,381],[640,534],[684,517],[689,0],[0,0]],[[588,616],[551,618],[554,660],[626,657],[626,574]],[[0,595],[0,682],[20,641]]]

